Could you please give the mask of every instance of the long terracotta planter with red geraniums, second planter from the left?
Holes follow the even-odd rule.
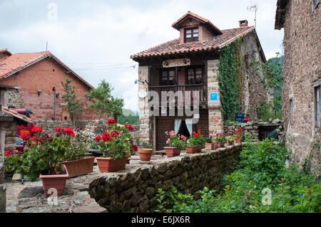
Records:
[[[95,157],[86,157],[86,138],[80,131],[76,134],[71,128],[56,127],[56,139],[64,147],[62,162],[68,170],[69,177],[86,175],[93,172]]]

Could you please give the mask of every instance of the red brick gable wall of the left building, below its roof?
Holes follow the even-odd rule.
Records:
[[[65,116],[69,120],[66,107],[61,106],[62,95],[64,94],[61,81],[66,81],[66,75],[65,69],[60,64],[55,60],[46,58],[21,70],[20,73],[0,80],[0,83],[21,88],[20,93],[24,100],[24,107],[34,112],[32,115],[34,120],[45,120],[46,118],[51,120],[51,117],[54,117],[54,92],[52,88],[55,87],[56,93],[59,93],[59,97],[56,97],[56,120],[63,120]],[[71,85],[75,85],[76,97],[85,100],[83,95],[89,91],[88,86],[71,73],[68,73],[68,78],[72,80]],[[41,95],[38,95],[38,90],[41,90]],[[89,105],[88,100],[85,100],[85,109]],[[85,110],[80,118],[91,120],[97,117]]]

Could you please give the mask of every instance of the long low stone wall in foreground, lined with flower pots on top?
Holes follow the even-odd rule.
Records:
[[[203,150],[153,160],[150,165],[132,164],[132,160],[124,171],[100,174],[89,184],[88,192],[108,212],[153,212],[158,189],[167,193],[175,186],[183,194],[195,194],[205,186],[219,189],[220,179],[232,170],[240,151],[241,145]]]

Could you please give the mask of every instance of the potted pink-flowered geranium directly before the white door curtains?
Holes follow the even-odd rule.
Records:
[[[164,147],[165,153],[167,157],[175,157],[180,155],[180,151],[185,149],[186,146],[186,137],[183,135],[176,135],[175,131],[165,132],[166,135],[169,136],[166,144],[169,147]]]

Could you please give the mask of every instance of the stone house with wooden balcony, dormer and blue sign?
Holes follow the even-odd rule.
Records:
[[[220,51],[237,40],[240,40],[240,62],[243,66],[240,112],[255,120],[256,104],[260,104],[260,100],[268,96],[260,83],[263,79],[262,71],[253,73],[253,66],[248,65],[252,61],[266,62],[255,28],[248,26],[248,21],[245,20],[239,21],[238,28],[220,30],[208,19],[190,11],[172,26],[179,31],[179,38],[131,56],[139,63],[136,82],[141,138],[151,142],[154,149],[159,150],[166,145],[165,131],[175,130],[186,137],[190,137],[190,133],[195,130],[202,130],[205,137],[223,132],[221,94],[217,78]],[[168,99],[165,110],[151,107],[150,102],[154,97],[146,94],[157,93],[159,102],[163,102],[161,93],[164,91],[184,94],[191,92],[192,95],[183,95],[181,100],[178,97]],[[186,110],[186,100],[195,103],[193,98],[199,102],[198,113],[179,114],[178,105]],[[176,105],[175,114],[170,115],[169,107],[172,104]]]

